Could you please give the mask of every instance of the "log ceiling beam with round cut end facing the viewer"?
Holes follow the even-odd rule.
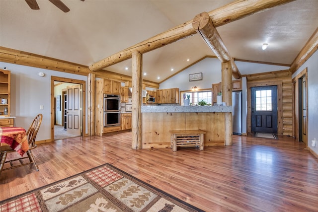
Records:
[[[209,14],[207,12],[197,14],[193,18],[192,26],[201,35],[203,40],[222,63],[230,62],[232,75],[236,79],[239,79],[241,77],[239,69],[234,63],[233,58],[230,56],[230,53],[223,43],[219,32],[213,26],[213,22]]]

